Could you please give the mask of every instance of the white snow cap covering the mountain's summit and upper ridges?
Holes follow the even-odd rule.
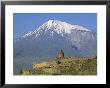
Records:
[[[72,25],[67,22],[59,21],[59,20],[48,20],[43,25],[41,25],[39,28],[34,30],[33,32],[26,33],[23,37],[31,36],[32,34],[39,35],[41,32],[47,31],[47,30],[53,30],[58,34],[63,35],[64,33],[71,33],[72,30],[85,30],[90,31],[87,28],[84,28],[79,25]],[[53,33],[53,32],[52,32]]]

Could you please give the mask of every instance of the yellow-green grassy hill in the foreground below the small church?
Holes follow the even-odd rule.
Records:
[[[97,58],[64,58],[33,63],[21,75],[97,75]]]

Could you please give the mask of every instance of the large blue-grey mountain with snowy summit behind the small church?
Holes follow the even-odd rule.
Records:
[[[14,58],[55,58],[60,49],[67,57],[97,54],[97,33],[79,25],[49,20],[14,39]]]

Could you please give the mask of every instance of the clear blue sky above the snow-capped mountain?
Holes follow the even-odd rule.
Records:
[[[48,20],[60,20],[81,25],[90,30],[97,30],[95,13],[14,13],[14,38],[33,31]]]

